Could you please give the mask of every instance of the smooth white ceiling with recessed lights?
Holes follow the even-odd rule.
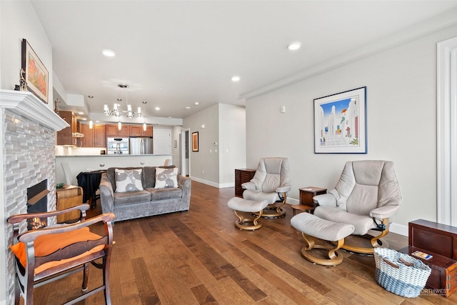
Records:
[[[84,96],[91,116],[119,97],[134,109],[147,101],[148,116],[165,118],[216,103],[244,105],[246,97],[329,63],[386,48],[391,38],[413,39],[418,29],[457,24],[457,1],[31,3],[53,46],[55,75],[67,93]],[[292,41],[301,49],[288,51]],[[106,58],[102,49],[116,56]],[[233,83],[233,75],[241,80]],[[121,83],[128,91],[118,88]]]

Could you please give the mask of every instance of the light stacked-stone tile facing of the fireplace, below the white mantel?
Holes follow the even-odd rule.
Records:
[[[56,133],[48,127],[16,114],[3,112],[3,183],[5,200],[5,244],[11,245],[12,226],[6,219],[14,214],[26,213],[27,188],[48,179],[48,209],[56,209]],[[49,222],[53,223],[53,220]],[[14,304],[14,258],[7,253],[8,284],[6,304]]]

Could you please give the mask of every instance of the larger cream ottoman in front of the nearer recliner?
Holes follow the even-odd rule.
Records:
[[[306,245],[301,249],[301,256],[308,261],[325,266],[336,266],[343,261],[343,255],[338,249],[344,244],[344,239],[354,231],[352,224],[340,224],[326,219],[321,219],[309,213],[301,213],[293,216],[291,225],[301,231]],[[323,239],[326,241],[334,241],[333,244],[320,245],[316,244],[314,238]],[[326,251],[328,258],[317,257],[311,254],[312,249],[320,249]]]

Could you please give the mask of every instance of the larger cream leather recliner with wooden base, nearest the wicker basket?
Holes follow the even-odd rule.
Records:
[[[386,246],[381,237],[388,234],[388,219],[401,204],[401,192],[392,161],[348,161],[335,186],[327,194],[313,197],[318,204],[314,215],[337,223],[352,224],[353,235],[370,240],[370,245],[348,244],[343,249],[373,254],[373,248]],[[371,231],[380,231],[376,235]],[[371,231],[368,234],[368,231]]]

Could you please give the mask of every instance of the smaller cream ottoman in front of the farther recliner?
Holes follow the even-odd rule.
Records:
[[[235,221],[235,226],[240,230],[256,230],[259,229],[262,224],[258,222],[258,219],[262,216],[263,209],[268,206],[266,200],[247,200],[239,197],[233,197],[227,202],[230,209],[235,211],[235,215],[238,216],[238,220]],[[253,219],[244,218],[238,214],[238,211],[256,213],[256,217]]]

